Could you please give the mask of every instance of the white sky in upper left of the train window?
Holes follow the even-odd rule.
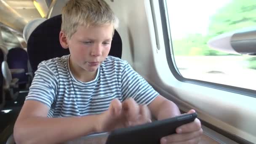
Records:
[[[232,0],[166,0],[171,35],[180,39],[189,33],[208,33],[209,18]]]

